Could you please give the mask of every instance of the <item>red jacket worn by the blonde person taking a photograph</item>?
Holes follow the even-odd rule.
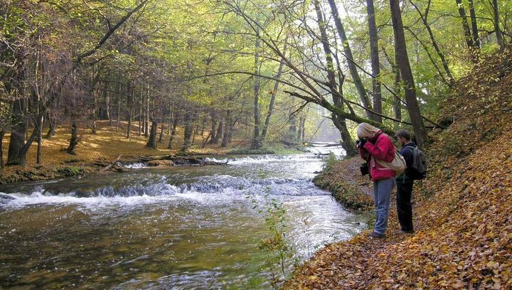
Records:
[[[370,169],[370,177],[372,181],[380,181],[383,179],[394,178],[396,173],[393,169],[385,168],[375,159],[380,159],[385,162],[391,162],[395,158],[395,145],[390,137],[380,132],[376,137],[368,140],[363,148],[359,149],[361,158],[368,161],[368,168]]]

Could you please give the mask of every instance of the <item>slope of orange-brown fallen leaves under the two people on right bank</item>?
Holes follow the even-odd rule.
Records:
[[[442,119],[454,122],[424,148],[430,167],[413,191],[415,233],[397,233],[392,206],[387,237],[368,230],[328,245],[284,289],[512,289],[512,55],[483,60],[443,107]],[[358,171],[357,159],[343,162]],[[317,179],[363,196],[363,180],[340,167]]]

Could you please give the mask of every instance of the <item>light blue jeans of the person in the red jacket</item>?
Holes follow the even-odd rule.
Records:
[[[373,181],[373,198],[375,200],[375,229],[380,235],[384,235],[388,228],[389,203],[391,192],[395,187],[395,178]]]

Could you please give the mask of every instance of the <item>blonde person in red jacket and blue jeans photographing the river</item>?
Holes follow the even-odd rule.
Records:
[[[368,162],[368,171],[373,181],[376,217],[370,237],[383,237],[388,228],[390,197],[395,187],[396,173],[393,169],[381,166],[375,159],[393,161],[396,148],[388,135],[370,124],[359,124],[357,134],[359,155]]]

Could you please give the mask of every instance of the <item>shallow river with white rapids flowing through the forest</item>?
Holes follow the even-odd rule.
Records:
[[[318,155],[218,161],[0,186],[0,289],[266,289],[272,227],[288,273],[366,227],[311,182]]]

